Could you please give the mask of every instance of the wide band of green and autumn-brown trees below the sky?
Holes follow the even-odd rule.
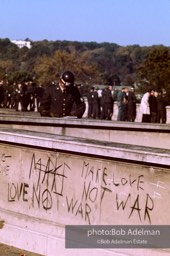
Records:
[[[8,74],[8,78],[20,79],[16,73],[25,72],[35,75],[38,83],[46,84],[69,69],[74,72],[76,83],[85,86],[127,85],[134,81],[140,82],[142,90],[143,83],[147,87],[151,84],[166,89],[166,95],[170,95],[169,47],[123,47],[107,42],[66,40],[32,41],[31,44],[31,49],[20,49],[8,38],[0,39],[0,77]]]

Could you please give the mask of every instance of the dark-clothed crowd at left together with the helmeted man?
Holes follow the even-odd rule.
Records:
[[[79,89],[74,86],[74,74],[65,71],[59,81],[45,88],[32,81],[23,83],[0,81],[0,107],[16,111],[38,111],[41,116],[81,118],[85,103]]]

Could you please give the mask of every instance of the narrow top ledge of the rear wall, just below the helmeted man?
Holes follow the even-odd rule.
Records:
[[[91,129],[141,129],[149,131],[162,131],[169,132],[170,124],[151,124],[141,122],[118,122],[118,121],[106,121],[106,120],[95,120],[82,118],[77,119],[75,117],[63,117],[63,118],[52,118],[52,117],[40,117],[39,113],[34,113],[31,116],[30,113],[26,112],[24,115],[5,114],[0,116],[0,124],[21,124],[21,125],[38,125],[38,126],[54,126],[54,127],[90,127]]]

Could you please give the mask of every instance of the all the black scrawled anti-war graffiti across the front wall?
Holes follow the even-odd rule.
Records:
[[[84,223],[93,224],[96,211],[109,210],[110,216],[126,216],[141,223],[152,223],[155,197],[161,197],[163,182],[148,190],[149,181],[142,171],[120,171],[117,164],[79,158],[78,164],[54,154],[42,157],[29,154],[23,181],[8,182],[8,202],[29,204],[40,211],[65,212]],[[1,156],[0,173],[9,173],[7,159]],[[3,168],[6,168],[3,171]],[[6,166],[6,167],[4,167]],[[18,179],[19,180],[19,179]],[[158,199],[158,198],[156,198]],[[108,213],[107,213],[108,214]],[[101,220],[102,221],[102,220]]]

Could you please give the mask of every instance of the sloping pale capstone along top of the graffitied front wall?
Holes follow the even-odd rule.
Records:
[[[121,159],[121,161],[127,162],[150,163],[159,166],[170,165],[170,152],[167,149],[102,142],[15,129],[1,129],[0,142],[114,160]]]

